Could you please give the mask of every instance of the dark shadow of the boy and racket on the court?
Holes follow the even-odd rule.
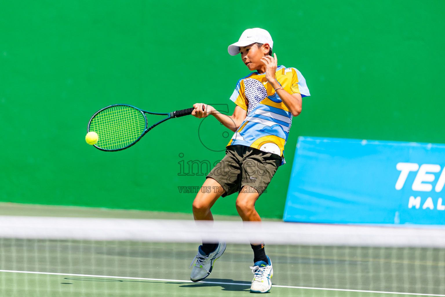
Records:
[[[172,284],[172,285],[180,285],[181,288],[200,288],[200,287],[223,287],[222,291],[249,291],[250,289],[250,282],[248,281],[234,281],[231,279],[226,278],[210,278],[206,279],[208,282],[214,282],[214,283],[203,283],[203,282],[197,282],[197,283],[189,283],[189,282],[163,282],[163,281],[129,281],[129,280],[116,280],[116,279],[109,279],[109,278],[92,278],[92,277],[64,277],[65,280],[70,281],[99,281],[99,282],[125,282],[125,283],[156,283],[156,284]],[[237,284],[246,284],[246,285],[231,285],[228,283],[237,283]],[[182,284],[182,285],[181,285]]]

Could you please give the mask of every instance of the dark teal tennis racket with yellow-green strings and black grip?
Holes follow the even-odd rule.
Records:
[[[202,108],[204,109],[204,106]],[[180,118],[192,114],[193,110],[192,107],[170,113],[157,113],[128,104],[113,104],[93,114],[89,120],[87,132],[94,131],[99,136],[94,145],[97,149],[122,151],[134,145],[160,123],[170,118]],[[148,127],[146,114],[166,115],[167,117]]]

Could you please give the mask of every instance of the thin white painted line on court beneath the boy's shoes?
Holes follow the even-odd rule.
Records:
[[[182,280],[167,280],[162,278],[144,278],[144,277],[112,277],[106,275],[91,275],[91,274],[73,274],[73,273],[53,273],[53,272],[37,272],[37,271],[17,271],[17,270],[0,270],[0,272],[14,272],[14,273],[35,273],[35,274],[53,274],[53,275],[68,275],[74,277],[108,277],[108,278],[125,278],[131,280],[146,280],[146,281],[175,281],[181,283],[193,283],[193,281],[182,281]],[[195,284],[206,283],[206,284],[219,284],[219,285],[244,285],[250,286],[250,284],[242,283],[221,283],[216,281],[200,281]],[[441,296],[445,295],[438,294],[420,294],[420,293],[400,293],[400,292],[383,292],[383,291],[365,291],[365,290],[349,290],[349,289],[329,289],[329,288],[311,288],[311,287],[294,287],[294,286],[280,286],[272,285],[276,288],[291,288],[291,289],[311,289],[311,290],[328,290],[328,291],[346,291],[346,292],[363,292],[363,293],[385,293],[385,294],[403,294],[403,295],[421,295],[421,296]]]

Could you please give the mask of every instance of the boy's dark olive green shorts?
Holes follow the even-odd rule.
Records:
[[[222,196],[240,192],[251,186],[263,194],[281,163],[276,154],[250,146],[227,146],[226,156],[210,171],[207,178],[215,179],[226,191]],[[243,191],[248,191],[248,187]]]

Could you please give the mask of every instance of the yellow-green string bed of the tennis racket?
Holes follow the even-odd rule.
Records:
[[[88,131],[99,136],[97,147],[118,150],[135,142],[145,128],[146,120],[141,111],[131,106],[112,106],[96,114]]]

